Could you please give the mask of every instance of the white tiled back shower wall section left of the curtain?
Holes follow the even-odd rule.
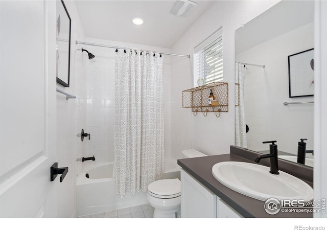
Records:
[[[114,160],[114,50],[85,47],[96,58],[87,60],[86,157],[95,156],[96,163]],[[106,49],[106,50],[105,50]],[[86,54],[85,54],[86,55]]]

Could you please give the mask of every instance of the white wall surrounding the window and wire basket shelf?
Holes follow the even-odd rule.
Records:
[[[171,110],[172,154],[194,148],[208,155],[229,153],[235,144],[235,30],[263,13],[279,1],[217,1],[208,9],[172,47],[173,53],[191,54],[191,60],[172,60]],[[191,109],[182,108],[182,90],[192,88],[191,64],[193,49],[201,41],[223,27],[224,82],[228,82],[228,112],[220,118],[212,114],[192,115]]]

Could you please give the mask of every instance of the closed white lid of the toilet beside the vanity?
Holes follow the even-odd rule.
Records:
[[[148,186],[151,195],[159,198],[172,198],[180,196],[179,179],[156,180]]]

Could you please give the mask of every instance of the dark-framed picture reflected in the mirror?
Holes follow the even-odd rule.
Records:
[[[310,49],[288,56],[290,98],[314,95],[313,50]]]

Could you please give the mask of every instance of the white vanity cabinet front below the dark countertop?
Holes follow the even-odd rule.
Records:
[[[240,218],[241,215],[181,169],[181,218]]]

